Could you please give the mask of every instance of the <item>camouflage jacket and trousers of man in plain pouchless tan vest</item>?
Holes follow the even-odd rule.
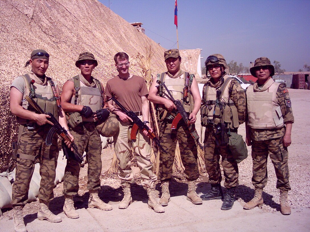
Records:
[[[281,107],[284,122],[294,122],[290,96],[282,84],[277,89],[277,103]],[[290,190],[288,151],[283,147],[285,127],[280,129],[251,128],[252,160],[254,187],[263,189],[267,184],[267,157],[268,154],[274,165],[277,176],[277,188]]]

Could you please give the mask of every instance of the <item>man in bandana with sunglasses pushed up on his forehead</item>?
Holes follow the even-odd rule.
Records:
[[[60,222],[61,217],[54,215],[49,210],[49,203],[54,199],[54,181],[56,177],[56,164],[58,158],[57,135],[54,135],[51,146],[47,146],[45,139],[47,132],[51,129],[52,122],[46,114],[37,114],[33,108],[29,107],[24,97],[29,95],[29,88],[35,94],[34,100],[45,111],[50,112],[59,123],[68,130],[67,120],[64,111],[57,107],[55,95],[51,85],[55,84],[59,96],[57,83],[45,75],[49,64],[50,55],[44,50],[34,50],[31,58],[26,62],[32,70],[22,76],[17,77],[10,92],[10,109],[16,115],[17,122],[20,123],[17,141],[17,161],[16,178],[12,186],[12,205],[14,210],[14,229],[16,232],[26,232],[23,220],[23,208],[28,200],[30,181],[34,171],[35,158],[40,161],[40,189],[38,219],[50,222]],[[35,80],[33,87],[31,80]],[[72,136],[71,136],[72,137]]]

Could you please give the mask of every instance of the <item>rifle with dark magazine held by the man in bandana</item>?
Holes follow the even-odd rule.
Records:
[[[30,85],[33,86],[34,80],[31,80]],[[34,95],[35,97],[35,95]],[[50,118],[47,118],[47,120],[49,120],[50,122],[52,122],[54,125],[52,126],[52,128],[47,132],[47,136],[46,136],[46,145],[50,146],[52,144],[52,139],[53,136],[55,134],[55,132],[60,135],[61,138],[63,138],[64,142],[69,142],[70,147],[73,149],[73,153],[74,153],[74,157],[77,159],[77,161],[82,162],[84,156],[81,156],[80,153],[78,152],[78,146],[74,143],[71,142],[71,137],[68,134],[68,131],[66,131],[64,129],[64,127],[62,127],[60,125],[60,123],[58,122],[58,120],[54,117],[53,114],[51,114],[50,112],[45,113],[42,108],[38,105],[38,103],[36,101],[33,100],[33,94],[29,94],[29,96],[25,96],[25,99],[29,102],[29,104],[33,107],[33,109],[37,110],[40,114],[46,114],[49,115]]]

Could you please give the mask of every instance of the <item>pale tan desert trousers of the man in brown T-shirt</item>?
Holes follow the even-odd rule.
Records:
[[[139,116],[142,119],[142,116]],[[131,125],[122,122],[119,118],[119,132],[114,136],[114,150],[119,161],[118,177],[121,184],[133,183],[134,176],[131,171],[132,150],[137,157],[137,164],[140,169],[141,184],[144,189],[155,186],[157,181],[156,175],[153,173],[153,164],[151,163],[151,146],[150,140],[138,130],[136,139],[130,140]]]

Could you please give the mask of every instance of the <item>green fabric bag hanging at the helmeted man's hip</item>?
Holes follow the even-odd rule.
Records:
[[[248,157],[248,149],[244,142],[242,135],[238,135],[235,132],[230,132],[228,148],[232,153],[233,159],[240,163]]]

